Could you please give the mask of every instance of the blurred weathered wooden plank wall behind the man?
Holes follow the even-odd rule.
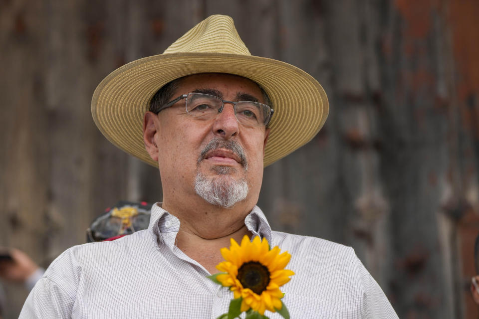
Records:
[[[105,207],[161,199],[159,173],[103,138],[90,99],[214,13],[330,100],[316,138],[265,169],[273,228],[354,247],[400,318],[477,318],[475,0],[1,0],[0,245],[46,266]],[[5,290],[16,318],[26,292]]]

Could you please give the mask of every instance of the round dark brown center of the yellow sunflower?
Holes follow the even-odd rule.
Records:
[[[268,287],[269,271],[257,261],[250,261],[238,269],[238,280],[243,288],[249,288],[260,295]]]

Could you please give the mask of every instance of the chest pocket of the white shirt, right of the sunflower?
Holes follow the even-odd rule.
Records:
[[[281,299],[288,308],[291,319],[340,319],[338,304],[321,299],[310,299],[287,293]]]

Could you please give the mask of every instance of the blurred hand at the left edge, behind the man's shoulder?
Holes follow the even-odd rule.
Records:
[[[15,282],[24,283],[28,276],[33,274],[38,266],[24,252],[9,248],[7,249],[11,260],[0,261],[0,278]]]

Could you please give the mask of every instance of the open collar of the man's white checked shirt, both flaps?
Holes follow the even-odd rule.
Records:
[[[160,204],[157,202],[151,207],[148,230],[157,236],[158,243],[164,242],[173,246],[176,234],[180,230],[180,220],[161,208]],[[259,236],[261,239],[266,238],[268,243],[271,243],[271,227],[258,206],[254,206],[244,218],[244,225],[254,236]]]

